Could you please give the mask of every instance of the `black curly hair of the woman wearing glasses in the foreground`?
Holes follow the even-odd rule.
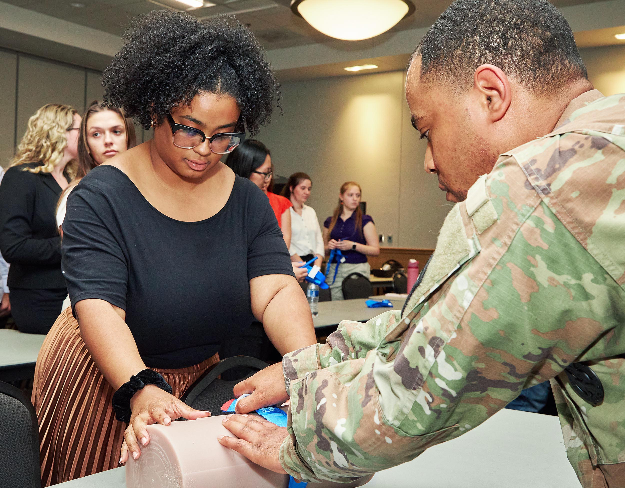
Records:
[[[269,123],[280,85],[252,33],[231,16],[202,24],[186,12],[153,11],[131,21],[124,47],[104,70],[104,101],[148,129],[199,92],[232,96],[237,130]]]

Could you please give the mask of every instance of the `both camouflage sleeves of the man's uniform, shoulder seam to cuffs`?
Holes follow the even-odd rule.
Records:
[[[524,181],[509,158],[454,207],[406,316],[346,324],[302,351],[280,451],[289,474],[349,481],[407,462],[617,327],[621,287]]]

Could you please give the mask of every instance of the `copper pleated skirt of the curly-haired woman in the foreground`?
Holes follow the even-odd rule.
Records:
[[[196,366],[156,369],[181,397],[217,354]],[[115,419],[113,387],[93,362],[71,308],[61,312],[39,351],[32,404],[39,421],[42,486],[119,466],[127,425]]]

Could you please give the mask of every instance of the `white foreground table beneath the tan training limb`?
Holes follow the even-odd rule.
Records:
[[[59,488],[126,488],[123,467]],[[502,410],[464,436],[376,473],[367,488],[581,488],[557,417]],[[309,484],[314,488],[314,484]],[[195,488],[212,488],[201,487]],[[244,487],[241,487],[244,488]]]

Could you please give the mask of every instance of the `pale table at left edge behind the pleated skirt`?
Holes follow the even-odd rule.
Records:
[[[0,380],[32,378],[44,339],[45,334],[24,334],[14,329],[0,329]]]

